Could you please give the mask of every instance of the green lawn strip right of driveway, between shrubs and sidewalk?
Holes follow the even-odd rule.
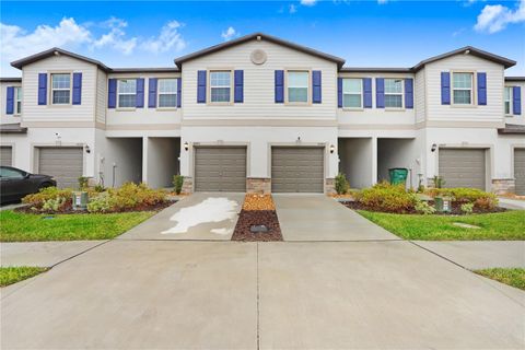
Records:
[[[517,241],[525,240],[525,211],[515,210],[471,215],[390,214],[358,210],[380,226],[405,240],[421,241]],[[454,222],[481,229],[464,229]]]

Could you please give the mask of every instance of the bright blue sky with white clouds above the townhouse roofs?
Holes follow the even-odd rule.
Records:
[[[525,0],[5,1],[0,77],[10,62],[60,47],[112,68],[173,67],[174,58],[262,32],[346,59],[412,67],[471,45],[516,60],[525,75]]]

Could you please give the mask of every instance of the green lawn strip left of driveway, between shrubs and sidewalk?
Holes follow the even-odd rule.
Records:
[[[109,240],[154,211],[110,214],[25,214],[0,211],[0,242]],[[46,219],[52,217],[52,219]]]

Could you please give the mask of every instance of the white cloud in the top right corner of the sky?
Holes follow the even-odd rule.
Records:
[[[502,4],[485,5],[474,28],[492,34],[504,30],[509,24],[520,22],[525,22],[525,0],[521,0],[514,10]]]

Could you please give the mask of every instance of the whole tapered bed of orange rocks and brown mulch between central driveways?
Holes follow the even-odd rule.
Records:
[[[281,228],[271,195],[246,195],[232,241],[282,241]]]

